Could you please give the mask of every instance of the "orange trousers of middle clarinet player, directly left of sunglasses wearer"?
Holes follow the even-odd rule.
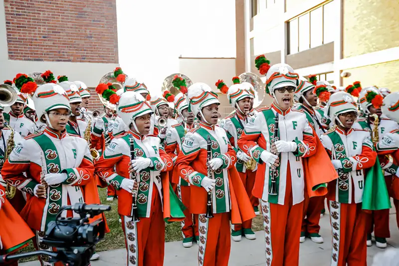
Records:
[[[198,218],[198,264],[227,266],[230,257],[230,213],[213,215],[213,218],[205,218],[204,214],[200,214]]]

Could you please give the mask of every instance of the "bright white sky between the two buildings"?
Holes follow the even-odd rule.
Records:
[[[235,57],[234,0],[117,0],[119,64],[161,91],[182,57]]]

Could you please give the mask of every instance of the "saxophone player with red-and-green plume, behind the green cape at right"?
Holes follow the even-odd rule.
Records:
[[[367,117],[358,119],[353,128],[373,132],[375,124],[375,118],[373,117],[373,114],[377,114],[379,118],[379,140],[382,140],[384,134],[399,129],[399,125],[397,122],[392,121],[382,115],[381,106],[383,104],[383,96],[380,94],[380,91],[378,89],[375,89],[373,87],[364,88],[360,92],[359,101],[360,107]],[[385,161],[384,157],[384,155],[379,156],[380,162]],[[393,176],[387,171],[384,172],[384,175],[387,187],[390,188]],[[385,249],[387,247],[387,238],[391,237],[389,228],[389,209],[373,211],[372,214],[368,216],[367,231],[367,246],[372,246],[371,234],[374,231],[377,247]]]

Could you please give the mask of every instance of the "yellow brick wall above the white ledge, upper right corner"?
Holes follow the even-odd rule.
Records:
[[[398,0],[343,0],[343,56],[399,46]]]

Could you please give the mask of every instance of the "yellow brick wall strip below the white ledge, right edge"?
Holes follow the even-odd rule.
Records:
[[[391,91],[399,92],[398,69],[399,60],[345,69],[345,72],[351,72],[352,75],[343,79],[343,85],[346,87],[359,80],[363,88],[376,85],[380,88],[389,88]]]

